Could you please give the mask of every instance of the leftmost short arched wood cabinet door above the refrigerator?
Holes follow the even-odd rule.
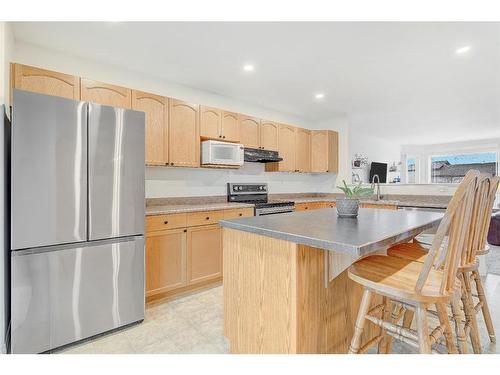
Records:
[[[12,87],[19,90],[60,96],[67,99],[80,99],[80,78],[69,74],[33,66],[12,64],[11,82]]]

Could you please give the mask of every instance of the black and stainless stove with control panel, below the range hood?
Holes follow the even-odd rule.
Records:
[[[265,183],[228,183],[227,201],[255,205],[255,216],[292,212],[295,203],[291,201],[269,200]]]

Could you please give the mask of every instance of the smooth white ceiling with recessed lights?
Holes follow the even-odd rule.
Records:
[[[499,23],[30,22],[14,35],[312,121],[347,112],[400,143],[500,136]]]

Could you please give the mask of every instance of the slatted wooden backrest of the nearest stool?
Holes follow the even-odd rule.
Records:
[[[447,294],[453,291],[458,265],[467,245],[478,178],[478,171],[468,171],[448,203],[415,285],[417,293],[420,293],[425,286],[431,269],[441,267],[443,278],[440,292]],[[448,241],[444,242],[446,235],[448,235]],[[439,257],[437,257],[438,254]]]

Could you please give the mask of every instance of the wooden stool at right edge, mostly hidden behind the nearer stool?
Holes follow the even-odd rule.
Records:
[[[491,210],[495,201],[495,194],[498,188],[500,178],[491,177],[483,173],[479,176],[474,194],[474,203],[472,209],[472,219],[467,230],[467,240],[465,251],[460,258],[458,267],[458,278],[461,283],[461,300],[465,312],[464,328],[462,324],[462,314],[457,311],[457,306],[451,306],[453,319],[455,320],[455,329],[459,340],[460,352],[467,352],[466,335],[471,338],[474,353],[481,353],[481,343],[479,339],[479,329],[476,314],[481,310],[491,342],[495,342],[495,332],[493,322],[488,308],[488,302],[484,293],[481,277],[479,275],[478,255],[485,254],[487,251],[486,237],[491,220]],[[407,260],[424,262],[428,249],[425,244],[418,242],[396,245],[387,251],[387,255]],[[471,281],[474,282],[479,302],[474,305]],[[404,326],[409,327],[413,320],[413,312],[405,312]]]

